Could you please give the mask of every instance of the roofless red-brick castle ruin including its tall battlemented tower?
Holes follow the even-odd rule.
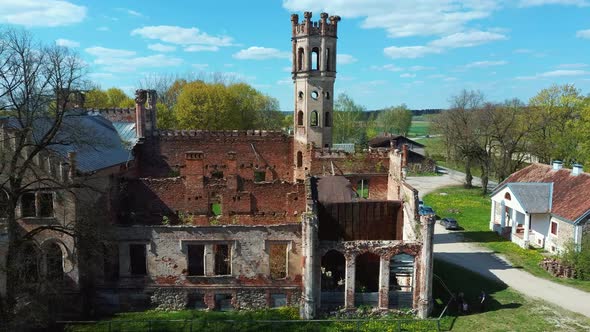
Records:
[[[93,204],[102,204],[110,234],[97,263],[97,308],[296,305],[311,319],[370,305],[428,315],[433,225],[420,220],[418,193],[404,181],[407,149],[332,148],[339,21],[291,16],[293,135],[160,130],[153,90],[136,92],[135,109],[86,110],[129,152],[92,169],[105,189]],[[70,175],[62,175],[71,181],[85,171],[77,157],[69,155]],[[32,199],[39,208],[43,198]],[[59,210],[55,194],[45,199]],[[79,200],[71,213],[83,209]],[[45,217],[60,222],[57,212]],[[52,259],[75,293],[74,244],[51,234],[37,243],[57,246],[61,258]],[[41,245],[33,251],[47,257]]]

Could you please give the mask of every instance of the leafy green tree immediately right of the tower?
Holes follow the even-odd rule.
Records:
[[[360,143],[362,130],[359,123],[365,108],[358,105],[347,94],[338,95],[334,103],[334,143]]]

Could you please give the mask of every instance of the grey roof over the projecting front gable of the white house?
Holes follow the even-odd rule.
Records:
[[[508,183],[508,188],[526,212],[551,212],[552,183],[516,182]]]

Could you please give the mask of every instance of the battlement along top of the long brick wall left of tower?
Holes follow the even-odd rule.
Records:
[[[154,132],[160,139],[191,139],[199,140],[221,138],[288,138],[279,130],[160,130]]]

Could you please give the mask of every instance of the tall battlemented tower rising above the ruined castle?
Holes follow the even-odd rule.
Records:
[[[293,27],[294,177],[302,180],[311,169],[311,149],[332,146],[332,109],[336,80],[336,40],[339,16],[321,13],[311,21],[311,12],[291,15]]]

